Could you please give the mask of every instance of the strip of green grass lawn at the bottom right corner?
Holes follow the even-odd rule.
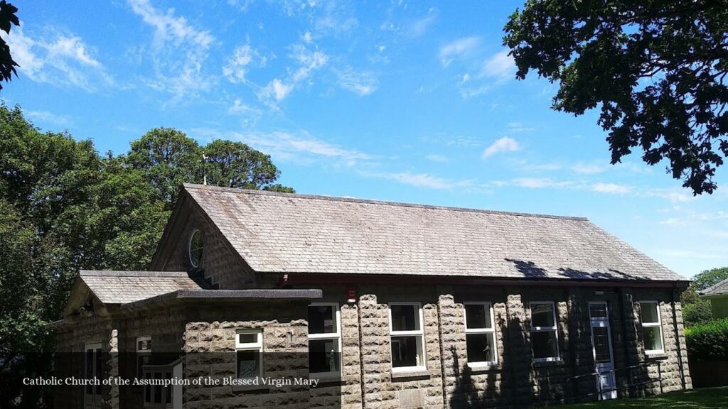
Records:
[[[728,408],[728,386],[701,388],[690,391],[670,392],[656,397],[618,399],[602,402],[564,405],[564,409],[714,409]]]

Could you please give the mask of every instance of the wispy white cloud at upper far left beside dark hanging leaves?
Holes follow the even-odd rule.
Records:
[[[60,87],[78,87],[86,92],[97,92],[109,87],[114,79],[92,54],[90,47],[79,37],[67,33],[53,33],[50,38],[32,39],[20,27],[7,41],[19,76],[28,76],[34,82]]]

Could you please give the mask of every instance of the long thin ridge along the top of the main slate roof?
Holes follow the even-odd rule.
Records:
[[[234,194],[258,194],[261,196],[294,197],[297,199],[328,200],[331,202],[380,204],[380,205],[384,205],[384,206],[416,207],[416,208],[421,208],[421,209],[432,209],[432,210],[451,210],[451,211],[457,211],[457,212],[488,213],[488,214],[493,214],[493,215],[522,216],[522,217],[531,217],[531,218],[551,218],[551,219],[573,220],[573,221],[588,221],[589,220],[588,218],[578,217],[578,216],[542,215],[542,214],[538,214],[538,213],[518,213],[518,212],[505,212],[505,211],[501,211],[501,210],[472,209],[469,207],[437,206],[434,204],[417,204],[417,203],[407,203],[407,202],[389,202],[389,201],[385,201],[385,200],[355,199],[353,197],[283,193],[283,192],[278,192],[278,191],[261,191],[261,190],[243,189],[243,188],[226,188],[226,187],[222,187],[222,186],[199,185],[199,184],[195,184],[195,183],[183,183],[183,187],[185,189],[226,191],[226,192],[234,193]]]

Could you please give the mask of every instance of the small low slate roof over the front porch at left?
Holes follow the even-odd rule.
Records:
[[[178,271],[87,271],[79,279],[105,304],[122,304],[176,290],[202,290],[187,274]]]

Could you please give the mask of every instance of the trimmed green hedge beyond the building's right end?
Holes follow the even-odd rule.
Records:
[[[685,341],[691,358],[728,360],[728,318],[686,328]]]

